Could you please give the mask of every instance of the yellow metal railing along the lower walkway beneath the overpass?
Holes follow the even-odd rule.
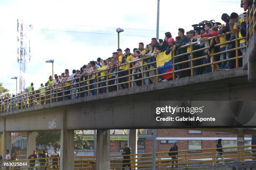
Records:
[[[180,168],[189,168],[203,165],[221,165],[227,163],[256,163],[256,145],[236,146],[236,147],[223,147],[223,148],[205,148],[197,150],[179,150],[172,152],[157,152],[156,153],[156,169],[161,170],[168,166],[179,166]],[[223,152],[218,152],[223,149]],[[58,161],[52,161],[55,158],[40,158],[30,159],[36,160],[35,168],[47,167],[52,169],[53,163]],[[2,167],[5,170],[4,163],[29,163],[26,160],[13,160],[3,161]],[[43,160],[43,161],[40,161]],[[95,156],[74,156],[74,170],[95,170],[96,168]],[[110,167],[111,170],[122,169],[124,165],[126,168],[152,168],[152,153],[140,153],[131,155],[111,155]],[[41,163],[41,165],[38,165]],[[48,165],[46,165],[48,163]],[[21,166],[20,170],[28,169],[28,165]],[[1,166],[0,166],[1,167]],[[15,169],[15,168],[14,168]],[[17,168],[16,168],[17,169]]]

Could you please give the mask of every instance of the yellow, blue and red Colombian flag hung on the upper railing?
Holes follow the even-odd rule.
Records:
[[[158,53],[156,57],[156,67],[161,74],[166,72],[172,72],[172,52],[169,55],[164,52]],[[168,75],[162,75],[164,79],[172,78],[172,73]]]

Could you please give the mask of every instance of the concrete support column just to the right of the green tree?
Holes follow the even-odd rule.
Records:
[[[110,170],[110,130],[97,130],[96,170]]]

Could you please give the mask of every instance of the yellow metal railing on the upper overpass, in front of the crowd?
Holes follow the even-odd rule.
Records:
[[[230,35],[231,32],[227,32],[223,35]],[[201,43],[206,41],[213,41],[215,38],[221,37],[223,35],[218,35],[214,37],[208,37],[204,40],[201,40]],[[187,47],[191,48],[191,52],[184,52],[179,55],[175,55],[177,50],[172,50],[172,65],[173,70],[170,72],[160,73],[156,67],[156,61],[147,62],[148,59],[154,57],[144,57],[138,60],[131,62],[126,62],[120,65],[113,65],[112,67],[107,67],[105,70],[93,72],[84,76],[76,77],[72,80],[60,81],[57,85],[43,87],[38,90],[31,92],[26,92],[24,94],[17,95],[10,99],[1,101],[0,104],[0,113],[10,112],[14,110],[20,110],[27,107],[33,107],[37,105],[45,105],[48,103],[63,101],[63,100],[72,100],[77,97],[84,97],[90,95],[97,95],[100,93],[111,92],[115,90],[120,90],[123,88],[131,88],[134,86],[148,85],[149,83],[159,82],[159,78],[163,75],[172,75],[172,80],[176,79],[176,74],[190,72],[186,76],[194,76],[195,70],[211,67],[211,72],[216,71],[216,67],[222,62],[233,62],[234,67],[242,66],[241,62],[243,55],[240,55],[240,50],[246,48],[246,45],[239,47],[239,41],[245,39],[246,37],[238,37],[238,32],[236,32],[236,39],[222,42],[214,45],[215,48],[218,48],[220,45],[226,45],[233,43],[234,47],[225,51],[217,52],[212,48],[211,54],[205,55],[204,50],[208,50],[210,47],[200,47],[197,50],[194,50],[194,47],[197,45],[197,42],[192,42],[190,44],[179,47],[178,50],[186,50]],[[225,60],[218,60],[218,56],[223,53],[230,53],[230,58]],[[197,56],[195,56],[197,54]],[[198,56],[198,54],[201,54]],[[187,57],[190,55],[190,59]],[[186,57],[186,60],[180,60],[179,62],[174,62],[175,59]],[[200,64],[195,65],[195,62],[199,63],[206,58],[209,58],[208,63],[200,62]],[[136,62],[141,64],[135,66]],[[177,69],[178,65],[188,64],[190,65],[183,66],[181,69]],[[128,66],[128,68],[122,70],[120,67]],[[150,67],[154,65],[154,67]],[[148,83],[149,82],[149,83]]]

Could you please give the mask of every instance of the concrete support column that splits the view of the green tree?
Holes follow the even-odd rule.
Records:
[[[60,169],[74,169],[74,130],[67,130],[67,114],[63,109],[61,125]]]

